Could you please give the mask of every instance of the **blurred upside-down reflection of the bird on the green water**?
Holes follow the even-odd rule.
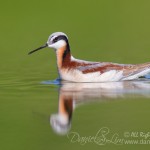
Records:
[[[150,97],[150,80],[111,83],[61,82],[58,112],[50,116],[50,124],[57,134],[65,135],[71,128],[74,109],[93,101]]]

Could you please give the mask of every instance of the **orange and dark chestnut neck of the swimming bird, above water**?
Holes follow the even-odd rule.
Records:
[[[68,65],[71,62],[71,52],[69,45],[67,44],[66,46],[57,49],[56,57],[58,69],[61,69]]]

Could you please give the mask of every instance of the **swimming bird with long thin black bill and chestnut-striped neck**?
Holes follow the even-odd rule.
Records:
[[[55,50],[60,80],[69,82],[117,82],[135,80],[150,73],[150,62],[119,64],[76,59],[71,54],[68,36],[63,32],[52,33],[45,45],[30,51],[28,54],[30,55],[46,47]]]

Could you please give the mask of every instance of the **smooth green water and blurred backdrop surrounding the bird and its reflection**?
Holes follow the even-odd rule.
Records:
[[[0,149],[148,149],[149,144],[81,145],[71,142],[67,134],[56,134],[50,116],[58,111],[63,87],[41,84],[57,78],[55,53],[48,48],[31,56],[27,53],[43,45],[49,34],[63,31],[76,58],[148,62],[149,6],[148,0],[1,1]],[[141,87],[146,91],[143,95],[131,87],[130,94],[116,98],[106,96],[108,91],[99,96],[82,91],[83,97],[69,92],[77,98],[69,132],[89,137],[107,127],[109,138],[115,133],[123,138],[124,132],[150,132],[149,82]]]

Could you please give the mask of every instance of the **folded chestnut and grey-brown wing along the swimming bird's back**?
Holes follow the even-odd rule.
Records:
[[[150,72],[150,62],[144,63],[144,64],[138,64],[138,65],[132,65],[132,64],[117,64],[117,63],[91,63],[88,65],[78,66],[78,70],[80,70],[83,74],[87,73],[94,73],[94,72],[100,72],[100,74],[103,74],[105,72],[108,72],[110,70],[115,71],[122,71],[123,77],[122,79],[126,79],[130,76],[139,77],[147,74]],[[137,75],[137,76],[136,76]]]

